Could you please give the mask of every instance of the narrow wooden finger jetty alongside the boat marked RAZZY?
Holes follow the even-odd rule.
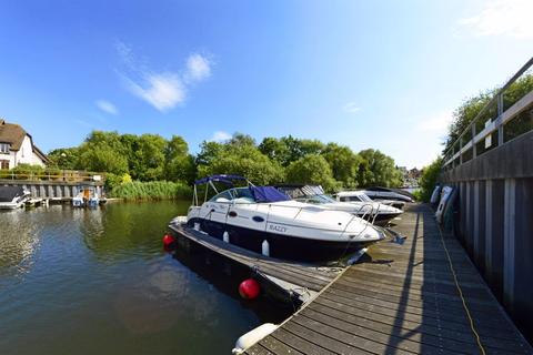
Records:
[[[171,223],[169,227],[179,235],[185,236],[217,254],[252,268],[286,292],[296,294],[303,302],[323,290],[343,270],[341,267],[319,267],[266,257],[210,237],[202,232],[184,229],[179,222]]]

